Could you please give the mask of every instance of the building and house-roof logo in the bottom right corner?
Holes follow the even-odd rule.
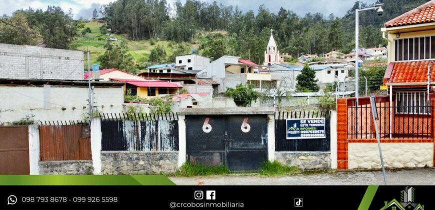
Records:
[[[415,202],[415,189],[412,186],[405,187],[400,191],[400,202],[396,199],[391,201],[384,201],[384,206],[380,210],[424,210],[424,205]]]

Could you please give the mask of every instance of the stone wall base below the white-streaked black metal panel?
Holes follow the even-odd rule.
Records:
[[[178,151],[102,151],[102,174],[169,174],[177,169]]]

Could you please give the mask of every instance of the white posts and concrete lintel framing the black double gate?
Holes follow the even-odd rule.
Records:
[[[275,111],[273,107],[180,108],[178,111],[178,167],[187,160],[186,115],[267,115],[267,159],[275,159]]]

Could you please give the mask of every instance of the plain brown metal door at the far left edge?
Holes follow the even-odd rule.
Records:
[[[0,174],[30,174],[28,126],[0,126]]]

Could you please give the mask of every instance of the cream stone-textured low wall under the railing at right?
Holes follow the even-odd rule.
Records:
[[[381,143],[385,167],[433,166],[433,143]],[[349,143],[348,168],[380,168],[377,143]]]

